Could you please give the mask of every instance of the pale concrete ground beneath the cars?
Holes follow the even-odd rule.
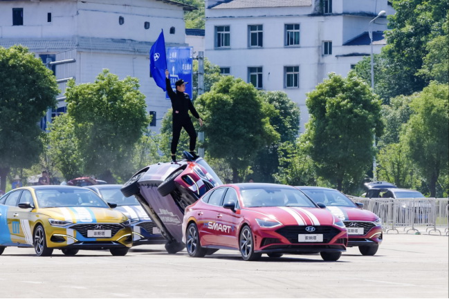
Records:
[[[374,256],[349,248],[338,262],[284,255],[244,262],[237,251],[189,258],[162,245],[128,255],[8,247],[0,255],[0,298],[448,298],[448,240],[385,234]]]

